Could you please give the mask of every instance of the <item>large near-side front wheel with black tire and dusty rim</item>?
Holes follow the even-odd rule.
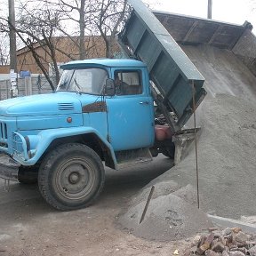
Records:
[[[92,148],[79,143],[60,145],[40,165],[38,187],[48,204],[61,211],[92,204],[104,186],[103,164]]]

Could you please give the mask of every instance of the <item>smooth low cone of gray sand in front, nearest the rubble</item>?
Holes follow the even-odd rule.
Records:
[[[212,226],[204,212],[173,194],[152,199],[145,219],[140,223],[144,206],[145,202],[132,206],[118,222],[133,235],[148,240],[184,239]]]

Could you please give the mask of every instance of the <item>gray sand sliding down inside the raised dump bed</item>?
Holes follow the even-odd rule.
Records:
[[[205,44],[180,46],[204,76],[207,97],[224,93],[256,103],[256,77],[233,52]]]

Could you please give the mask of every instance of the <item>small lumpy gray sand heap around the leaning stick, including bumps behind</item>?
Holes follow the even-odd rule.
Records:
[[[212,226],[206,214],[196,207],[196,190],[190,185],[180,188],[172,180],[155,185],[145,219],[140,223],[149,190],[147,187],[134,197],[128,211],[118,219],[121,227],[133,235],[148,240],[173,241]]]

